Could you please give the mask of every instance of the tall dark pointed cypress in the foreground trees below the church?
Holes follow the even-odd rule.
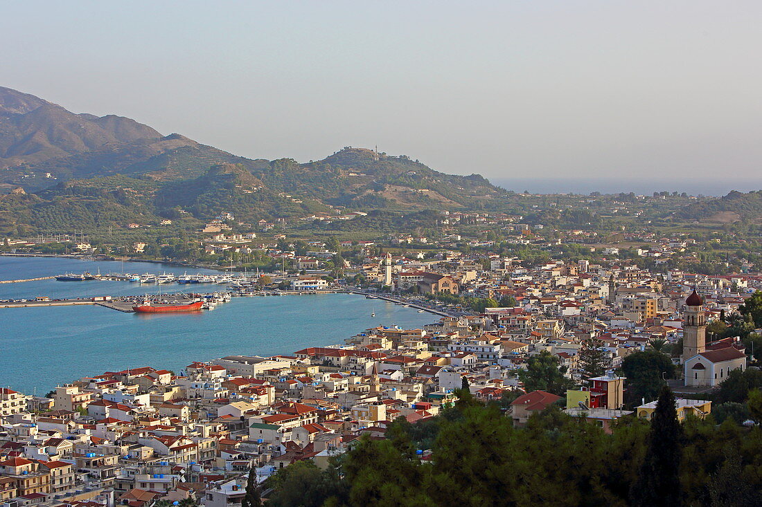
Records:
[[[656,402],[648,447],[638,477],[630,489],[631,505],[680,505],[680,422],[674,394],[664,386]]]

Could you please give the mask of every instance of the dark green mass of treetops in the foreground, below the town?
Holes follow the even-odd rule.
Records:
[[[398,418],[385,440],[360,438],[328,470],[294,464],[267,486],[273,505],[758,505],[760,445],[762,428],[731,419],[680,425],[668,390],[652,423],[625,418],[611,434],[555,406],[514,428],[475,403]]]

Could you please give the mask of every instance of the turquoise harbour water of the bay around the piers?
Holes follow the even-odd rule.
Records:
[[[0,256],[0,280],[63,273],[219,273],[159,263]],[[40,280],[0,284],[0,299],[79,298],[181,292],[187,285]],[[193,285],[214,292],[223,285]],[[207,288],[204,290],[204,288]],[[372,317],[371,314],[375,314]],[[232,298],[198,314],[133,314],[97,305],[0,308],[0,387],[44,395],[104,371],[152,366],[179,372],[194,361],[234,354],[292,354],[344,343],[370,327],[417,328],[438,319],[360,295]]]

